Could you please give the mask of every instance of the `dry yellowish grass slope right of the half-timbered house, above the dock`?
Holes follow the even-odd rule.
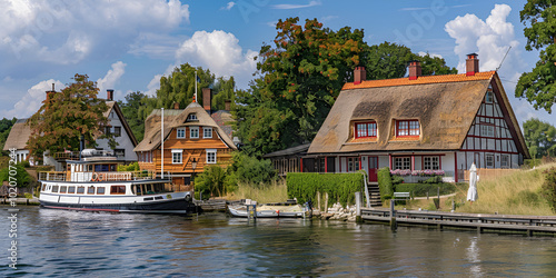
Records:
[[[478,199],[473,203],[466,201],[468,187],[458,187],[455,197],[441,198],[440,210],[451,210],[454,199],[457,212],[554,216],[554,211],[539,195],[545,181],[543,171],[550,167],[556,167],[556,163],[516,171],[504,177],[480,179],[477,185]],[[405,207],[434,209],[433,199],[413,200]]]

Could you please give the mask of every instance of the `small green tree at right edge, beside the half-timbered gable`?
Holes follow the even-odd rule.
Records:
[[[556,156],[556,128],[539,119],[523,123],[524,139],[532,157]]]

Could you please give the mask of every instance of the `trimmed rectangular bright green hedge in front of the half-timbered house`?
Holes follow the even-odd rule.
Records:
[[[318,173],[318,172],[288,172],[286,183],[288,186],[288,198],[297,198],[299,203],[308,200],[315,202],[317,191],[328,192],[331,206],[336,200],[342,206],[355,203],[355,192],[361,191],[364,187],[364,175],[350,173]]]

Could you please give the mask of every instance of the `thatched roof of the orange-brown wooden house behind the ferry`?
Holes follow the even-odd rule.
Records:
[[[187,121],[190,113],[196,113],[196,121]],[[155,109],[149,117],[145,120],[145,138],[133,149],[135,151],[150,151],[160,146],[160,125],[161,125],[161,110]],[[165,140],[170,135],[173,128],[186,126],[205,126],[212,127],[217,130],[219,138],[231,149],[237,149],[230,137],[224,131],[221,127],[207,113],[207,111],[197,102],[191,102],[185,110],[165,109]]]

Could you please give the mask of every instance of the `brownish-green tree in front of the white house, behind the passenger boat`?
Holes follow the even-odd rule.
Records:
[[[116,147],[113,135],[105,135],[108,110],[105,100],[98,99],[96,82],[87,75],[76,75],[73,82],[61,92],[52,93],[40,109],[29,118],[31,136],[28,141],[34,161],[41,161],[44,151],[79,150],[81,136],[88,147],[96,147],[96,139],[108,139]]]

